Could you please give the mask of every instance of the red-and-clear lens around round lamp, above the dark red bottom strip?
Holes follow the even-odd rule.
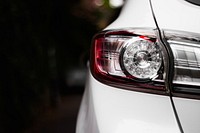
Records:
[[[93,61],[102,75],[136,81],[163,78],[161,44],[155,32],[109,32],[94,38]]]

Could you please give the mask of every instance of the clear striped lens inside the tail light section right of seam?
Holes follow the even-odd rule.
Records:
[[[170,42],[174,53],[175,81],[200,85],[200,47],[181,42]]]

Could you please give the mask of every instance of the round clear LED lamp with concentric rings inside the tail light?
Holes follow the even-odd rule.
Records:
[[[122,64],[133,77],[154,78],[162,64],[160,48],[150,40],[130,40],[124,48]]]

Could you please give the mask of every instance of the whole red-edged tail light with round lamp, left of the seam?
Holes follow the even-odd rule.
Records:
[[[108,85],[164,94],[166,59],[156,30],[104,31],[93,39],[91,72]]]

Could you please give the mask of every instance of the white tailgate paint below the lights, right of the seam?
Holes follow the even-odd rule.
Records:
[[[173,98],[184,133],[200,132],[200,100]]]

